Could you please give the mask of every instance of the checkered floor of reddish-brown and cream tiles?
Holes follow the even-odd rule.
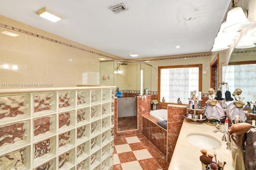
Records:
[[[114,170],[168,170],[169,163],[144,135],[114,139]]]

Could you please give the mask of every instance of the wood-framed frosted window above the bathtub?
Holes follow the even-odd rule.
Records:
[[[188,104],[190,91],[202,92],[202,64],[158,66],[158,101]],[[163,103],[162,103],[163,104]]]

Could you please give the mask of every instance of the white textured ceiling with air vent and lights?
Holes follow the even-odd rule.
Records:
[[[0,15],[123,59],[209,52],[230,0],[1,0]],[[109,7],[128,8],[114,14]],[[35,14],[48,7],[53,23]],[[179,45],[180,48],[175,48]],[[138,53],[130,57],[129,53]]]

